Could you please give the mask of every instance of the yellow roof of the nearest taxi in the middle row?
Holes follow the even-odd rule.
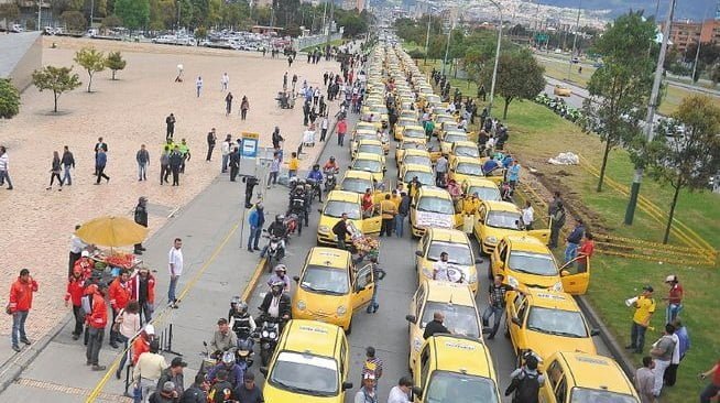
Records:
[[[479,339],[437,335],[427,342],[433,344],[435,351],[438,351],[435,356],[438,370],[495,379],[490,351]]]

